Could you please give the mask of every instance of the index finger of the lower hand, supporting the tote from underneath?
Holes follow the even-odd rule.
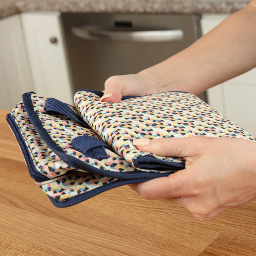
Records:
[[[154,178],[129,186],[147,200],[196,196],[198,190],[190,180],[190,174],[183,169],[167,177]]]

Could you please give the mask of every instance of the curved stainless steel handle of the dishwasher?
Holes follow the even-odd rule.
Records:
[[[88,40],[110,40],[130,42],[174,42],[184,38],[182,30],[118,31],[94,26],[72,27],[72,33]]]

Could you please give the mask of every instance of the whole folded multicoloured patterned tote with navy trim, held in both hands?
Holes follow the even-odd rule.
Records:
[[[102,92],[79,90],[75,106],[33,92],[23,94],[7,122],[31,177],[56,207],[68,207],[125,184],[168,176],[182,158],[156,156],[136,138],[256,139],[193,94],[164,92],[100,102]]]

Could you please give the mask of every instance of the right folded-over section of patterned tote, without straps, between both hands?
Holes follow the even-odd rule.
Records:
[[[164,92],[123,97],[120,103],[100,102],[102,92],[78,90],[75,106],[82,119],[135,169],[178,170],[184,160],[156,156],[132,145],[137,138],[235,137],[256,140],[197,96]]]

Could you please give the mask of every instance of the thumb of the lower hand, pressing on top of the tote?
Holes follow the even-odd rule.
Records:
[[[212,138],[193,136],[189,138],[135,139],[133,145],[139,150],[159,156],[183,157],[198,155],[205,143]]]

